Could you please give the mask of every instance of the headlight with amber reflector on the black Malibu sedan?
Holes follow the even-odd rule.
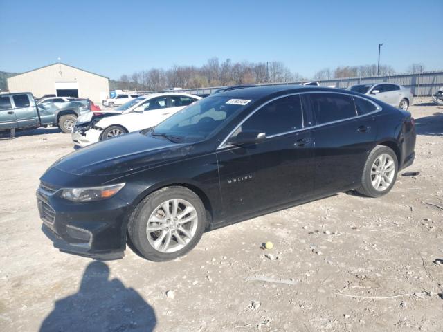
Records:
[[[102,199],[109,199],[117,194],[125,183],[118,185],[104,185],[102,187],[90,188],[65,188],[62,190],[62,197],[73,202],[92,202]]]

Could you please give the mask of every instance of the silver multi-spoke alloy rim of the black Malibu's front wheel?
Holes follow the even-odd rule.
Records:
[[[170,199],[154,209],[146,225],[147,240],[159,252],[177,252],[195,236],[198,216],[184,199]]]

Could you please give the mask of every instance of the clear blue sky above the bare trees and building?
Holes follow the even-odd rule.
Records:
[[[322,68],[413,62],[443,69],[443,0],[0,0],[0,71],[62,62],[110,78],[149,68],[282,61]]]

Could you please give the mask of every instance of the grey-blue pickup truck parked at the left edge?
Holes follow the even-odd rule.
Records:
[[[80,114],[90,111],[91,100],[77,98],[70,102],[35,104],[32,93],[0,95],[0,131],[32,129],[56,125],[64,133],[71,132]]]

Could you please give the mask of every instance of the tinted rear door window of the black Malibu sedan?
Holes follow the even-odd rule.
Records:
[[[354,100],[341,93],[308,93],[305,95],[317,124],[325,124],[356,116]]]

